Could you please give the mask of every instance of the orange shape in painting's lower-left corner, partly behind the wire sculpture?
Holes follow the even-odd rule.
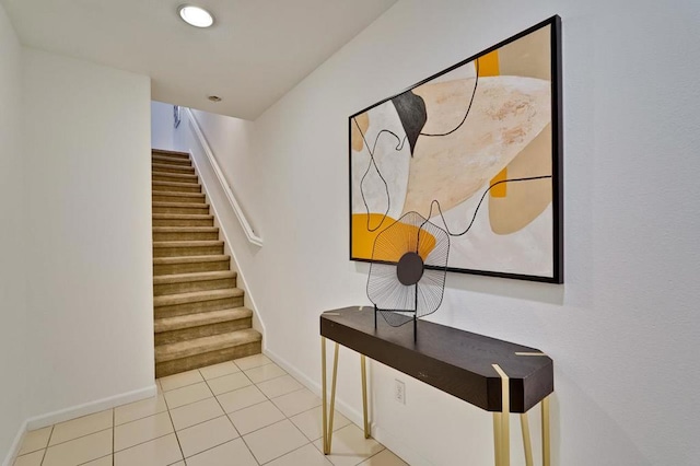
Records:
[[[368,214],[366,213],[353,213],[352,214],[352,258],[353,259],[368,259],[368,260],[382,260],[387,263],[398,263],[398,259],[408,252],[409,244],[415,245],[415,240],[418,237],[418,226],[408,225],[405,223],[395,223],[396,220],[390,217],[384,217],[381,213],[370,213],[370,226],[375,228],[382,224],[376,231],[368,230]],[[384,222],[382,223],[382,219]],[[388,226],[392,229],[382,235],[382,244],[390,245],[389,247],[381,247],[377,251],[376,256],[372,257],[374,249],[374,242],[376,236],[386,230]],[[415,246],[412,246],[415,248]],[[435,237],[422,230],[420,233],[420,244],[418,254],[423,260],[435,248]]]

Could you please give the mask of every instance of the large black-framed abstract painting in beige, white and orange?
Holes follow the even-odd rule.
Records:
[[[552,16],[349,118],[350,259],[415,211],[451,271],[563,282],[560,44]]]

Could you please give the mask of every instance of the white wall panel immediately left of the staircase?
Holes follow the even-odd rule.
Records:
[[[148,77],[31,48],[23,73],[28,406],[42,423],[153,387],[151,96]]]

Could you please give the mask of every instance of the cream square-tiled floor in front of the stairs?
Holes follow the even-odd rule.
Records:
[[[163,377],[158,397],[28,432],[14,466],[400,466],[262,354]]]

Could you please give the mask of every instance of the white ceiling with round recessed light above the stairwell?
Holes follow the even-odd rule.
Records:
[[[0,0],[23,45],[151,77],[152,98],[255,119],[397,0]],[[222,102],[212,103],[209,95]]]

